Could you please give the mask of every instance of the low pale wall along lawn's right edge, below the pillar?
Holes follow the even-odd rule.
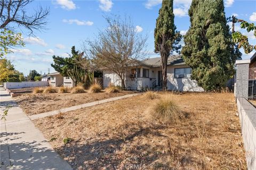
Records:
[[[245,98],[237,97],[247,169],[256,169],[256,108]]]

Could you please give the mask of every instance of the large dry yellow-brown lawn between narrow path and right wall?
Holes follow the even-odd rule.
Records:
[[[189,118],[158,122],[147,112],[157,99],[139,95],[35,124],[75,169],[246,169],[233,94],[172,98]]]

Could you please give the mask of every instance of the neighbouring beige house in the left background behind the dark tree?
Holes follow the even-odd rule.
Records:
[[[75,86],[74,81],[70,77],[62,77],[59,72],[48,74],[48,76],[51,77],[50,86],[52,87],[65,86],[73,88]]]

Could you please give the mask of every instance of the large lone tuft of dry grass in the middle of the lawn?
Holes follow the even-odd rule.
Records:
[[[188,116],[172,101],[170,95],[159,98],[150,108],[149,114],[157,120],[170,123],[177,123],[181,118]]]

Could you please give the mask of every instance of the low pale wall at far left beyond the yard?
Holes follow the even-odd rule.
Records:
[[[49,86],[47,81],[22,81],[22,82],[5,82],[5,89],[19,89],[26,87],[44,87]]]

